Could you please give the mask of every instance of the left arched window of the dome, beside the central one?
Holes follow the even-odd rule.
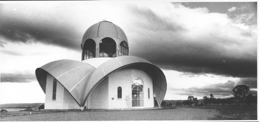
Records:
[[[83,46],[82,60],[95,58],[96,43],[93,39],[87,39]]]

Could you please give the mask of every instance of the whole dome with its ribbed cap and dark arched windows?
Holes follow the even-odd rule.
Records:
[[[117,25],[102,21],[89,27],[82,38],[82,61],[99,57],[129,55],[128,39]]]

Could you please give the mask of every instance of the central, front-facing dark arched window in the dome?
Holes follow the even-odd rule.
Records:
[[[116,57],[116,43],[112,38],[106,37],[100,41],[99,57]]]

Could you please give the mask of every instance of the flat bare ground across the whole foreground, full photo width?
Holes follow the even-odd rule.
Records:
[[[193,106],[130,111],[1,112],[0,121],[257,120],[257,106]]]

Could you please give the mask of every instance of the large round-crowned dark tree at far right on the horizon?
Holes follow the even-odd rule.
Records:
[[[232,91],[234,93],[235,98],[242,100],[242,98],[244,98],[246,96],[246,94],[248,94],[250,89],[246,85],[238,85],[235,88],[233,88]]]

